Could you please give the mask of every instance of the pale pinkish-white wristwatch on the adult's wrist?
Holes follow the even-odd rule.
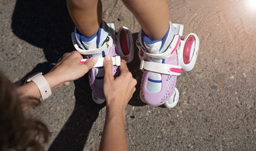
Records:
[[[26,82],[30,82],[33,81],[41,94],[41,98],[40,101],[43,101],[47,98],[49,98],[49,96],[51,96],[52,91],[51,91],[51,87],[49,86],[48,82],[46,81],[46,78],[44,78],[44,76],[42,76],[42,72],[37,72],[36,74],[28,77],[28,79],[26,80]]]

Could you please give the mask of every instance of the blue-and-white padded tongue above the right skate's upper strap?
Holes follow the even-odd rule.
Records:
[[[150,40],[149,37],[143,36],[144,45],[149,53],[158,54],[162,45],[162,40]]]

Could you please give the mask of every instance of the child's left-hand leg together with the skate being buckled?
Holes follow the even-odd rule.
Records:
[[[73,45],[86,59],[96,56],[99,58],[96,67],[88,74],[92,98],[95,103],[103,103],[104,68],[103,57],[113,57],[113,75],[119,76],[118,64],[121,57],[133,59],[133,40],[128,28],[121,28],[115,37],[113,24],[107,25],[102,21],[101,0],[66,0],[68,11],[76,27],[71,34]],[[116,42],[115,42],[116,40]],[[117,48],[116,48],[117,47]]]

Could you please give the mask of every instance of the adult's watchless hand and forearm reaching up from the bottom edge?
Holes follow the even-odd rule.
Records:
[[[125,108],[135,92],[137,81],[131,76],[126,61],[121,60],[120,76],[114,79],[113,62],[104,59],[103,91],[106,97],[106,120],[99,150],[128,150],[125,133]]]

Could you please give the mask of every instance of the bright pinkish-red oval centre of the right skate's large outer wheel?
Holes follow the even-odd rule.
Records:
[[[185,45],[184,45],[184,49],[183,49],[184,64],[190,63],[190,51],[192,49],[193,42],[195,42],[195,36],[193,36],[193,35],[188,36],[188,38],[186,39]]]

